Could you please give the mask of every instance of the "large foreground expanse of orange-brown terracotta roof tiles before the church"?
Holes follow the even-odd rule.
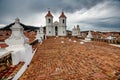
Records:
[[[102,42],[81,45],[79,39],[71,40],[53,37],[38,44],[30,66],[19,80],[115,80],[112,78],[119,69],[120,48]]]

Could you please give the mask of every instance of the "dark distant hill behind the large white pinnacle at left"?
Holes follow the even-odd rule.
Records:
[[[12,25],[14,25],[15,23],[11,23],[3,28],[0,28],[0,30],[10,30],[10,27],[12,27]],[[21,26],[23,26],[24,30],[30,30],[30,31],[34,31],[36,29],[39,29],[39,27],[35,27],[35,26],[28,26],[25,24],[20,23]]]

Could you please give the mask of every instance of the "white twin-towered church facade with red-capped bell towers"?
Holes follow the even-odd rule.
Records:
[[[59,22],[53,22],[53,16],[50,11],[45,16],[46,36],[66,36],[66,19],[64,12],[59,17]]]

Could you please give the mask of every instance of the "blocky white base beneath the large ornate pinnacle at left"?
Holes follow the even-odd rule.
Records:
[[[17,65],[20,61],[24,61],[26,64],[30,63],[32,57],[32,47],[31,46],[22,46],[11,49],[12,52],[12,63]]]

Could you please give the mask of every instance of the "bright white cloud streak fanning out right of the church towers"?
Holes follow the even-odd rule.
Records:
[[[112,7],[111,3],[112,3],[111,1],[104,2],[92,7],[89,10],[81,9],[79,11],[74,12],[73,14],[68,14],[70,17],[70,22],[88,21],[94,19],[119,16],[120,11],[115,7]]]

